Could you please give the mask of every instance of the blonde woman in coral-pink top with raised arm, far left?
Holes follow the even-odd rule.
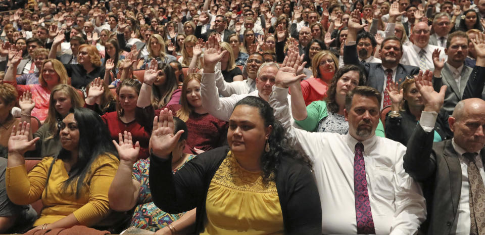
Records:
[[[18,85],[15,78],[17,72],[17,66],[22,60],[21,52],[17,53],[11,61],[11,66],[5,73],[4,82],[10,83],[17,88],[19,96],[25,91],[32,93],[32,99],[35,101],[35,107],[32,110],[31,115],[37,117],[40,122],[44,122],[47,117],[47,111],[49,110],[49,100],[51,97],[51,90],[58,84],[68,84],[69,77],[64,65],[56,59],[48,59],[34,61],[35,66],[40,68],[39,83],[30,85]]]

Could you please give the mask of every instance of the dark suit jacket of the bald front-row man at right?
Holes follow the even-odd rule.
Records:
[[[480,151],[485,160],[485,148]],[[433,131],[417,125],[404,155],[404,170],[423,184],[429,235],[454,234],[461,193],[461,166],[452,140],[433,144]]]

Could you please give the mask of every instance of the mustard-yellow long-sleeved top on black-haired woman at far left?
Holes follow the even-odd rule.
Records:
[[[108,190],[118,169],[119,160],[115,156],[98,157],[91,165],[91,172],[86,174],[86,185],[76,199],[75,188],[67,187],[65,191],[62,190],[63,182],[69,176],[61,159],[54,163],[49,184],[45,189],[47,173],[53,159],[43,158],[28,174],[25,165],[7,167],[7,194],[13,203],[27,205],[42,199],[44,207],[34,226],[56,222],[71,213],[74,213],[82,225],[90,226],[108,215]],[[73,181],[74,186],[76,183],[77,180]]]

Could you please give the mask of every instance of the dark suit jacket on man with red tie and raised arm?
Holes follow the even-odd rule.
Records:
[[[344,46],[344,64],[361,66],[367,77],[366,85],[371,86],[383,92],[385,82],[385,72],[381,63],[362,63],[357,56],[357,45]],[[401,84],[406,76],[419,73],[419,68],[410,65],[398,64],[396,69],[395,81]]]

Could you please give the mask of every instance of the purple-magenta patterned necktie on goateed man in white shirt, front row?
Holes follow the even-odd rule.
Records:
[[[367,191],[367,179],[365,176],[365,162],[362,152],[364,145],[355,145],[354,156],[354,193],[355,215],[357,219],[358,234],[375,234],[374,220],[370,209],[369,192]]]

